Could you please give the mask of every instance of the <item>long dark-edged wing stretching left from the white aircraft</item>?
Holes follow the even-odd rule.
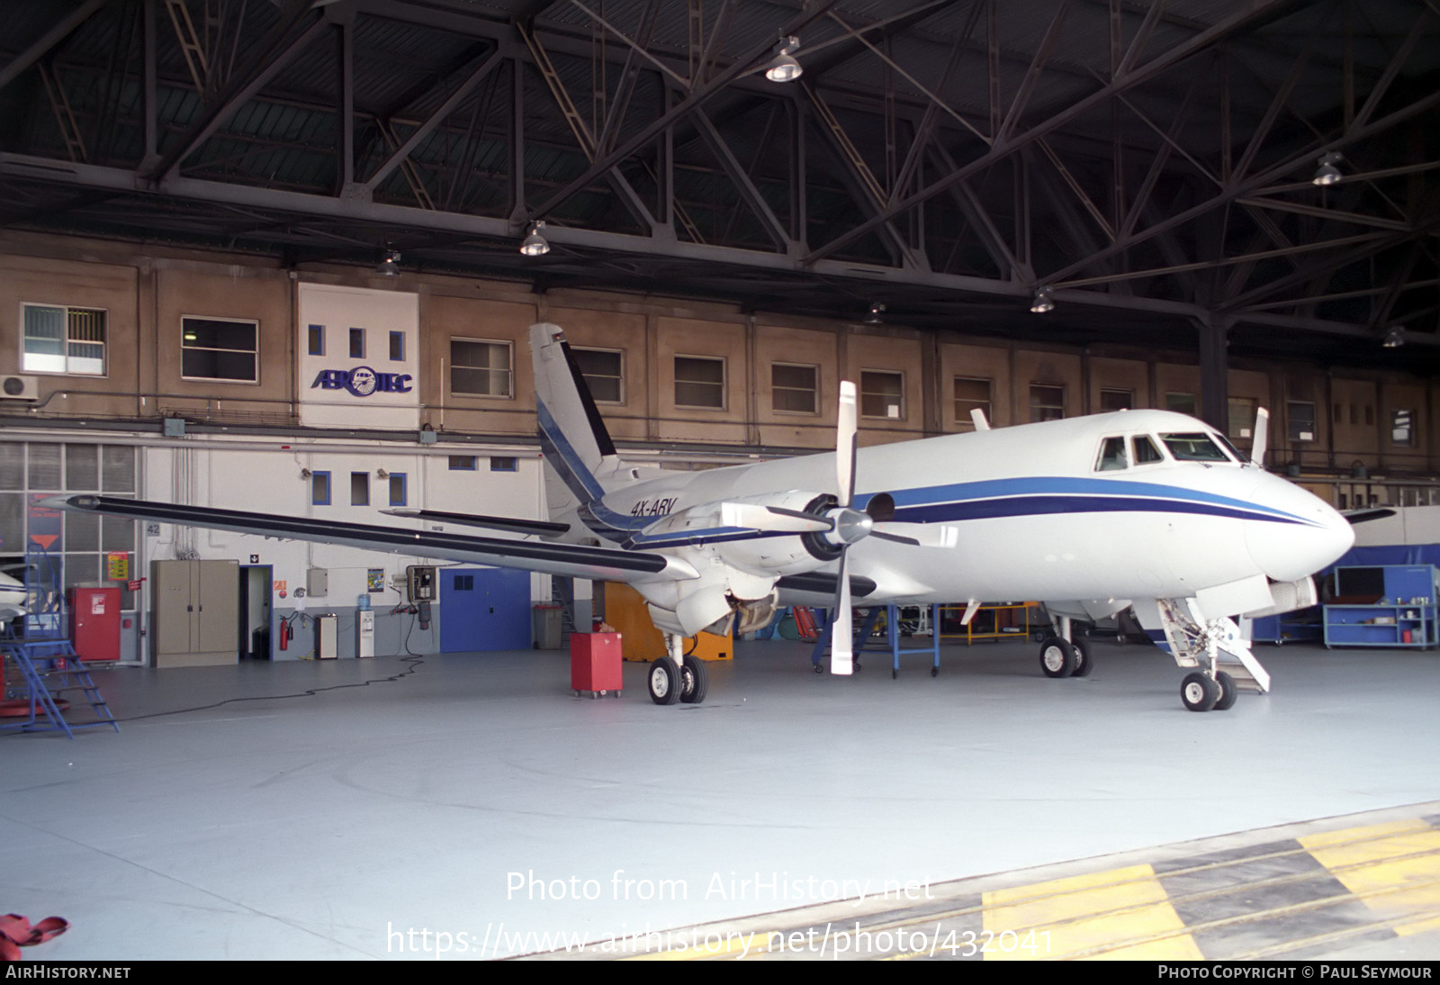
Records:
[[[609,582],[645,582],[652,577],[696,577],[694,569],[665,554],[618,550],[613,547],[585,547],[582,544],[537,543],[531,540],[501,540],[471,537],[435,530],[406,527],[377,527],[363,523],[336,523],[312,517],[282,517],[269,513],[243,513],[213,507],[176,505],[147,500],[125,500],[112,495],[53,495],[45,505],[81,513],[104,513],[112,517],[177,523],[192,527],[233,530],[236,533],[276,537],[281,540],[314,540],[344,544],[363,550],[387,550],[418,557],[520,567],[544,575],[590,577]]]

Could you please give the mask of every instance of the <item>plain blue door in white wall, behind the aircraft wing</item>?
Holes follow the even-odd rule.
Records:
[[[441,569],[441,652],[530,649],[530,572]]]

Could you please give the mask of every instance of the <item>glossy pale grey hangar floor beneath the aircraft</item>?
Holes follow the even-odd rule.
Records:
[[[747,642],[694,707],[651,704],[639,664],[624,698],[576,698],[559,652],[98,673],[120,734],[0,737],[0,912],[72,922],[30,959],[632,953],[667,946],[649,932],[886,907],[1034,929],[1014,909],[978,922],[1001,897],[976,893],[1149,865],[1191,880],[1175,897],[1236,853],[1287,884],[1292,844],[1346,881],[1316,838],[1398,831],[1392,878],[1421,901],[1387,914],[1394,893],[1355,890],[1368,925],[1312,926],[1292,953],[1440,958],[1436,652],[1261,647],[1274,691],[1194,714],[1149,647],[1097,644],[1071,680],[1041,677],[1035,649],[948,647],[939,677],[912,657],[899,680],[867,654],[832,678],[801,644]],[[258,700],[203,707],[235,697]],[[1378,814],[1342,817],[1361,812]],[[776,914],[860,891],[870,909]],[[1112,922],[1139,926],[1138,899]],[[1063,910],[1045,919],[1073,927]],[[1192,943],[1280,953],[1220,939]]]

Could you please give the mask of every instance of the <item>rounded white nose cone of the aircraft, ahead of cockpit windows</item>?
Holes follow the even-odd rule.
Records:
[[[1332,565],[1355,543],[1355,529],[1312,492],[1264,475],[1250,501],[1272,520],[1246,524],[1250,557],[1276,582],[1295,582]]]

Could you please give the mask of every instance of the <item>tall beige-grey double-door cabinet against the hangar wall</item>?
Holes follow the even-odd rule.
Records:
[[[150,652],[156,667],[239,660],[239,570],[233,560],[150,563]]]

